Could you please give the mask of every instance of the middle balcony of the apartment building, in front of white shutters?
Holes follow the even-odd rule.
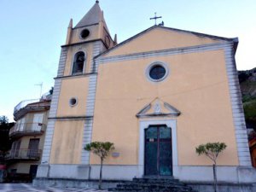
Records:
[[[20,123],[9,130],[9,137],[41,135],[45,130],[46,125],[42,123]]]

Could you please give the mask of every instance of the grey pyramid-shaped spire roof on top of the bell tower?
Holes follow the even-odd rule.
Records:
[[[79,23],[74,27],[90,26],[100,22],[102,17],[102,10],[99,3],[95,3],[94,6],[87,12],[86,15],[79,21]]]

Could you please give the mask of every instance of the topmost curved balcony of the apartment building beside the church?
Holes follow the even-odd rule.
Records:
[[[14,110],[15,120],[20,119],[26,113],[48,110],[50,98],[46,99],[31,99],[20,102]]]

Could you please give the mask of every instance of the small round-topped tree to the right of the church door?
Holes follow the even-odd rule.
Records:
[[[205,154],[207,157],[213,161],[213,178],[214,178],[214,191],[217,191],[217,175],[216,175],[216,165],[217,165],[217,158],[218,154],[222,152],[227,145],[225,143],[207,143],[201,144],[195,151],[198,155]]]

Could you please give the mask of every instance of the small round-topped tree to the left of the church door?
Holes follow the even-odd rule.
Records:
[[[109,142],[93,142],[85,145],[84,149],[90,151],[101,158],[101,169],[100,169],[100,179],[99,179],[99,189],[102,189],[102,165],[103,160],[108,156],[108,153],[114,149],[113,143]]]

